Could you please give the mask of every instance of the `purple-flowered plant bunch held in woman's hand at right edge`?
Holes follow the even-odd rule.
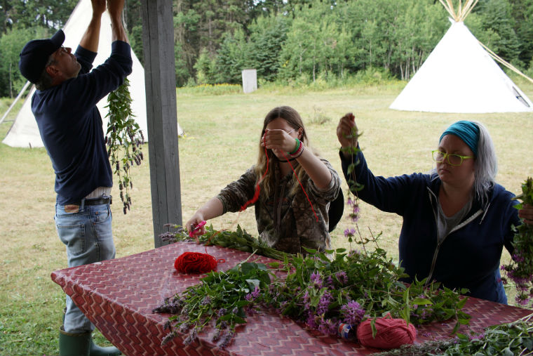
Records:
[[[522,184],[522,194],[515,199],[522,201],[515,206],[516,209],[522,209],[524,204],[533,206],[533,178],[527,178]],[[513,239],[515,251],[511,256],[511,262],[501,266],[501,269],[505,270],[507,277],[515,283],[517,291],[515,301],[520,305],[528,305],[533,295],[533,226],[522,223],[515,228],[515,232]]]

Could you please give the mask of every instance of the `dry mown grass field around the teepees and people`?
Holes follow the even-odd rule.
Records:
[[[533,84],[518,84],[533,98]],[[433,167],[430,151],[436,148],[440,133],[457,119],[475,119],[492,134],[499,157],[499,183],[518,193],[522,181],[533,176],[532,113],[465,115],[389,110],[400,90],[400,84],[392,84],[320,92],[283,88],[248,95],[178,91],[178,121],[186,133],[179,140],[183,220],[255,163],[264,115],[278,105],[290,105],[302,114],[311,145],[339,173],[335,128],[339,117],[354,112],[363,131],[360,145],[377,175],[429,171]],[[1,113],[9,103],[0,100]],[[8,120],[13,117],[11,114]],[[0,125],[0,138],[10,125]],[[148,149],[148,145],[143,148],[142,166],[133,169],[131,211],[123,215],[119,199],[113,206],[117,257],[154,248]],[[50,272],[65,268],[66,256],[53,223],[55,194],[50,160],[43,148],[0,144],[0,172],[0,266],[4,275],[0,279],[0,355],[57,355],[64,294],[50,280]],[[119,196],[117,187],[112,194]],[[389,256],[397,258],[400,218],[364,203],[360,206],[361,233],[382,231],[380,245]],[[236,214],[229,213],[211,222],[215,228],[229,228],[236,219]],[[257,235],[252,210],[242,213],[238,223]],[[346,219],[337,225],[332,233],[335,247],[347,246],[342,232],[349,226]],[[504,261],[508,258],[504,252]],[[513,303],[512,291],[508,295]],[[97,335],[97,342],[103,343],[104,338]]]

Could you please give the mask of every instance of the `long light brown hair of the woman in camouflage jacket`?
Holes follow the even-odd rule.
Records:
[[[267,170],[267,155],[265,154],[264,147],[261,147],[260,140],[264,135],[264,131],[267,129],[267,125],[270,124],[271,121],[274,121],[278,118],[287,121],[289,126],[294,128],[295,130],[299,130],[299,128],[302,128],[302,138],[299,138],[299,140],[304,144],[306,149],[311,150],[311,148],[309,147],[309,139],[307,138],[307,133],[304,128],[304,123],[302,122],[302,117],[299,116],[298,112],[292,109],[292,107],[290,106],[274,107],[274,109],[270,110],[270,112],[264,118],[263,129],[261,131],[261,136],[259,136],[259,155],[257,157],[257,164],[255,164],[255,176],[257,176],[256,184],[259,183],[259,180],[262,178],[264,171]],[[311,152],[313,152],[313,150],[311,150]],[[276,181],[276,177],[274,177],[274,165],[278,163],[278,159],[274,155],[274,152],[272,152],[272,150],[267,150],[267,154],[269,155],[269,169],[267,171],[267,175],[264,176],[264,179],[260,182],[261,193],[264,194],[264,196],[268,196],[269,193],[274,189],[274,183]],[[315,153],[313,152],[313,154]],[[292,166],[294,167],[295,164],[292,164]],[[300,165],[297,165],[295,167],[295,173],[300,181],[302,181],[303,178],[306,176],[306,172],[304,171],[304,169],[302,169],[302,166]],[[296,178],[294,178],[290,187],[290,193],[295,194],[297,189],[298,182]]]

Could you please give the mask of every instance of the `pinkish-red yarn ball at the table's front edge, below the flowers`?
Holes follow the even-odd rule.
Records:
[[[357,328],[357,338],[361,345],[367,348],[399,348],[407,343],[414,343],[417,329],[413,324],[407,325],[404,319],[376,318],[376,337],[372,337],[370,319],[360,323]]]

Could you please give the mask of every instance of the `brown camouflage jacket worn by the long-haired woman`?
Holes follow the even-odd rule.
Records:
[[[279,166],[276,164],[276,183],[274,191],[265,197],[259,194],[255,203],[255,218],[259,239],[274,249],[288,253],[304,253],[302,246],[308,249],[324,251],[330,249],[330,234],[328,232],[328,209],[339,194],[341,180],[332,168],[330,162],[321,159],[330,169],[332,179],[325,189],[318,189],[309,176],[302,180],[304,190],[309,195],[313,204],[313,213],[302,187],[298,187],[294,195],[290,194],[292,180],[295,179],[292,171],[280,178]],[[217,198],[224,206],[224,213],[235,212],[252,199],[255,192],[256,175],[254,166],[246,171],[241,178],[225,187]],[[318,217],[318,221],[317,221]]]

